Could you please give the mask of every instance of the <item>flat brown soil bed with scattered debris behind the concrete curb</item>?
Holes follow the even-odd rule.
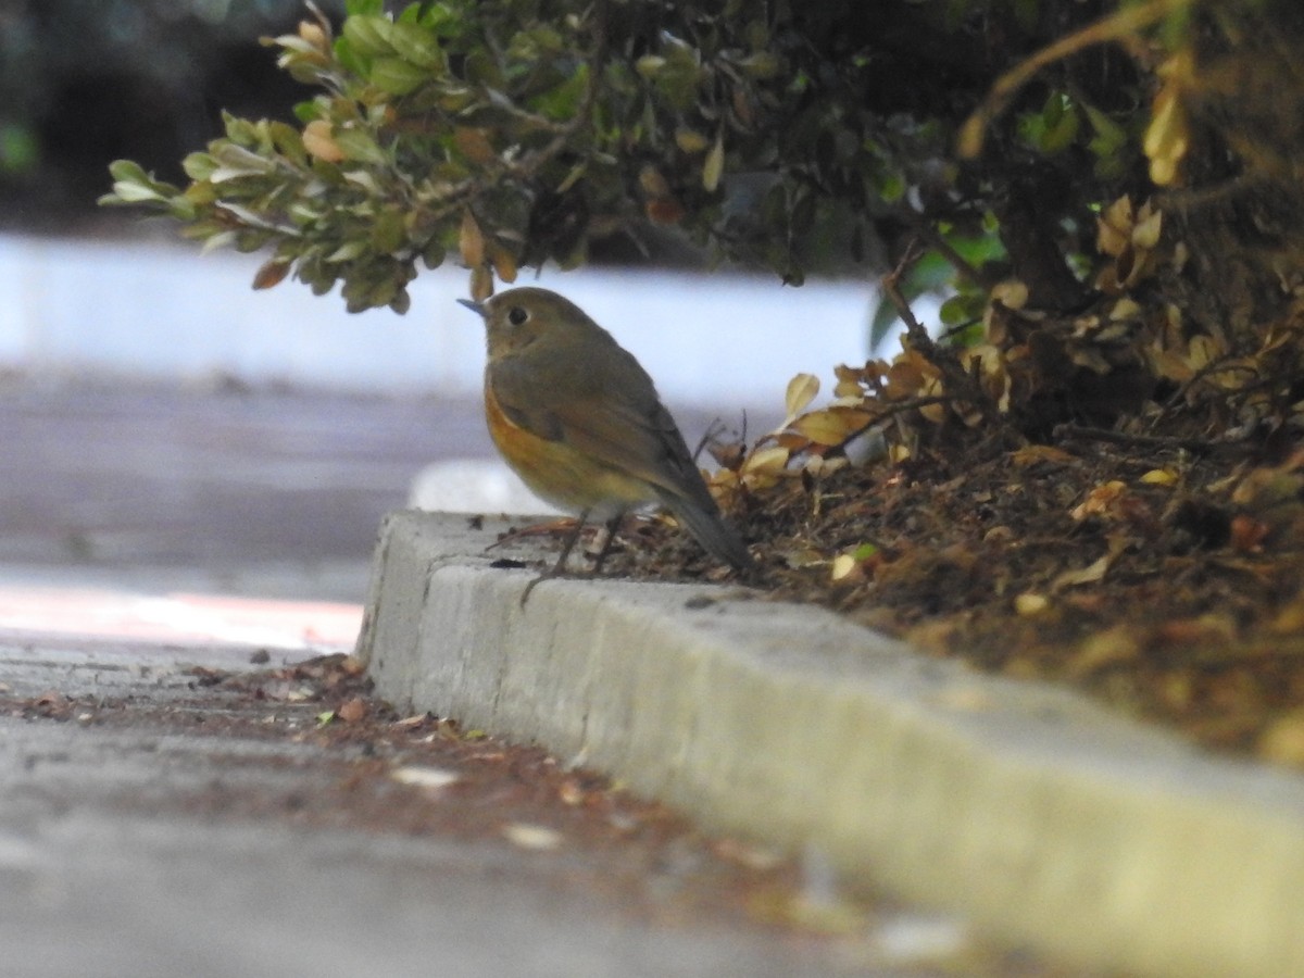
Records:
[[[789,477],[734,507],[748,583],[1304,767],[1304,458],[1059,434]],[[625,537],[610,572],[728,579],[664,523]],[[855,559],[833,580],[837,554]]]

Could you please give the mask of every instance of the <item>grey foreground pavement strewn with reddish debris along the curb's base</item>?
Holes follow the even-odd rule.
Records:
[[[263,623],[288,645],[257,647],[271,666],[303,659]],[[631,805],[606,824],[596,792],[537,784],[537,756],[433,726],[333,739],[300,683],[226,678],[256,647],[82,627],[0,627],[7,978],[940,975],[747,921],[721,895],[776,874]]]

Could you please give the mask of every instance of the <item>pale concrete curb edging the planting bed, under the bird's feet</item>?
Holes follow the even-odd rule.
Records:
[[[1093,968],[1304,974],[1304,778],[737,589],[556,580],[506,528],[386,518],[379,695]]]

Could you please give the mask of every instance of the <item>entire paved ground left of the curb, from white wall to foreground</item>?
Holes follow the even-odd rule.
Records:
[[[434,400],[0,390],[7,978],[1046,974],[540,751],[323,726],[338,698],[286,664],[351,647],[381,514],[432,459],[486,455],[480,424]]]

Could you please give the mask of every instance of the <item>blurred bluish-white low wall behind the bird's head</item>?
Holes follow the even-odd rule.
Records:
[[[484,338],[454,303],[464,271],[424,273],[407,316],[344,312],[297,282],[254,292],[259,258],[184,244],[0,236],[0,366],[149,378],[226,373],[368,393],[471,394]],[[563,292],[610,330],[674,403],[782,413],[797,372],[832,386],[863,361],[870,284],[582,270],[519,284]]]

